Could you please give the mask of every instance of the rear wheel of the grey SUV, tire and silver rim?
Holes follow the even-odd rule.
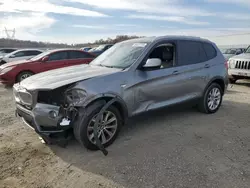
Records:
[[[219,84],[212,83],[205,91],[199,110],[206,114],[212,114],[219,110],[223,98],[223,91]]]

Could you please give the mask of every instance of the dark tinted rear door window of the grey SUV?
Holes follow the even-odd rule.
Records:
[[[206,53],[200,42],[179,41],[178,64],[190,65],[206,61]]]

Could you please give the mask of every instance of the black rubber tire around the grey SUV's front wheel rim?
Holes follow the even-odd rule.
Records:
[[[81,113],[81,110],[79,111],[79,116],[77,117],[75,123],[74,123],[74,135],[76,140],[83,146],[85,146],[89,150],[98,150],[99,148],[93,143],[93,140],[90,141],[89,139],[89,124],[91,123],[92,119],[100,112],[102,107],[94,109],[92,112],[90,112],[86,117],[82,117],[83,113]],[[119,110],[117,110],[116,107],[110,106],[106,111],[110,111],[113,113],[116,117],[117,122],[117,128],[114,132],[113,136],[108,140],[108,142],[104,143],[104,147],[110,146],[118,136],[121,126],[122,126],[122,117],[120,115]]]

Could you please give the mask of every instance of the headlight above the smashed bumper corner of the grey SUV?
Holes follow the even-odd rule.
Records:
[[[82,89],[70,89],[66,91],[65,97],[68,103],[75,105],[84,101],[87,97],[87,93]]]

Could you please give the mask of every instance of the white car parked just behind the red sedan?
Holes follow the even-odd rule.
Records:
[[[2,60],[0,61],[0,65],[11,62],[11,61],[18,61],[18,60],[26,60],[30,59],[38,54],[42,53],[42,50],[39,49],[20,49],[16,50],[12,53],[5,55]]]

